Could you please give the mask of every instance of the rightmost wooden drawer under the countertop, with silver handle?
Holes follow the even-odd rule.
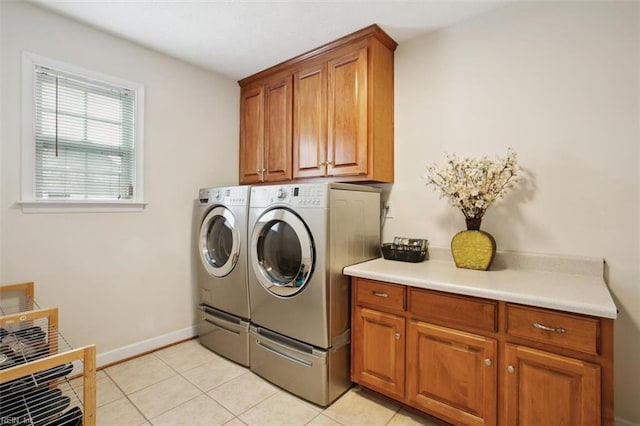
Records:
[[[507,304],[507,333],[566,349],[597,354],[600,321],[576,314]]]

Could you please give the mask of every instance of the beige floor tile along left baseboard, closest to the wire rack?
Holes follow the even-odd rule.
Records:
[[[154,354],[114,365],[105,371],[127,395],[176,375]]]

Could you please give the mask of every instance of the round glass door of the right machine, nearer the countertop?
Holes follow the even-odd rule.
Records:
[[[295,213],[273,209],[260,216],[253,228],[250,247],[255,275],[270,293],[294,296],[311,278],[313,239]]]

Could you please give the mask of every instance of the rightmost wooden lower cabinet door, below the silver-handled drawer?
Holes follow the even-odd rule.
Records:
[[[600,424],[600,366],[506,344],[505,370],[504,424]]]

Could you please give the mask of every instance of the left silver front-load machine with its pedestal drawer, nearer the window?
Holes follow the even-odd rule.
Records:
[[[212,351],[249,366],[247,226],[249,186],[205,188],[194,209],[198,337]]]

